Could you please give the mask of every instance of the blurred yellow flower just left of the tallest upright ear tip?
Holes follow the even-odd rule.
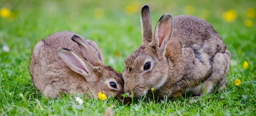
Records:
[[[139,11],[141,5],[139,1],[131,1],[125,8],[124,12],[126,15],[133,15]]]

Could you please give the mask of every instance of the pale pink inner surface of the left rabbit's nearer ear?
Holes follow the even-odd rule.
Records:
[[[83,67],[82,63],[80,63],[80,61],[77,58],[75,58],[72,54],[69,54],[69,53],[63,53],[63,54],[65,55],[66,61],[69,62],[70,65],[74,65],[75,67],[84,70],[88,74],[88,72]]]

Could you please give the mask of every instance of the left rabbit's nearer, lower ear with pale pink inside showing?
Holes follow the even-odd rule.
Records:
[[[67,48],[59,48],[58,54],[71,70],[82,75],[87,82],[96,81],[96,76],[92,73],[93,66],[81,56]]]

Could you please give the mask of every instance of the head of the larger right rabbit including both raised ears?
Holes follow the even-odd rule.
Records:
[[[152,87],[161,87],[168,76],[165,49],[172,36],[172,16],[165,14],[160,18],[153,37],[149,6],[144,5],[141,9],[141,27],[142,43],[124,61],[124,92],[133,95],[131,97],[142,96]]]

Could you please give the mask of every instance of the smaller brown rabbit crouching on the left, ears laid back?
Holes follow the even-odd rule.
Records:
[[[29,70],[34,85],[49,97],[58,96],[58,92],[94,93],[94,97],[98,92],[107,96],[123,93],[122,74],[104,65],[96,43],[68,31],[39,41],[33,49]]]

